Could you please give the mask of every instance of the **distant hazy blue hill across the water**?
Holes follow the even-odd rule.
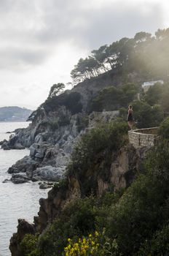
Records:
[[[0,108],[0,121],[26,121],[32,110],[19,107]]]

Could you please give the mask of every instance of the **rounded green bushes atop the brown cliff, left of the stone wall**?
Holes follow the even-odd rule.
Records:
[[[68,165],[68,175],[78,176],[85,183],[86,172],[91,171],[91,178],[88,178],[87,184],[84,185],[85,192],[90,193],[91,189],[95,192],[97,180],[92,175],[95,166],[104,180],[109,177],[112,152],[124,145],[126,132],[127,124],[114,121],[91,129],[76,143]],[[102,162],[102,165],[97,165],[97,162]]]

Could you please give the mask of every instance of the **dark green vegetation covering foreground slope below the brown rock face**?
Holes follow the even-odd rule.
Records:
[[[161,133],[165,133],[165,124],[166,121],[160,128]],[[24,250],[30,248],[33,238],[36,242],[33,249],[24,251],[23,255],[66,255],[68,249],[64,251],[64,248],[70,243],[68,238],[71,249],[74,243],[82,243],[81,239],[87,241],[90,234],[95,236],[95,232],[99,234],[100,254],[93,249],[93,255],[103,255],[103,252],[104,255],[165,255],[169,239],[168,159],[168,140],[165,139],[149,153],[144,172],[129,188],[114,192],[109,187],[101,197],[94,196],[91,191],[90,196],[72,201],[39,239],[25,236]],[[74,172],[79,175],[77,166]],[[87,251],[86,247],[86,254],[77,255],[91,255],[90,249]],[[76,255],[73,251],[72,255]]]

